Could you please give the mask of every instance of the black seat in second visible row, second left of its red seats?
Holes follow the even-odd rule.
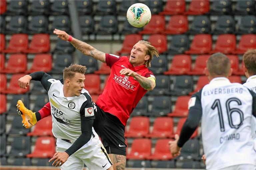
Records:
[[[99,23],[97,34],[106,35],[106,34],[116,34],[117,32],[118,32],[118,21],[116,16],[114,15],[103,16]]]

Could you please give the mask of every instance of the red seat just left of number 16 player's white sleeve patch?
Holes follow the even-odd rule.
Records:
[[[189,99],[190,99],[190,96],[179,96],[176,100],[174,111],[172,113],[169,113],[167,116],[187,117]]]

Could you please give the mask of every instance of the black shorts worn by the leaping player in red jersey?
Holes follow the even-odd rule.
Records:
[[[125,126],[116,116],[104,112],[99,106],[97,106],[97,112],[94,115],[93,128],[100,136],[107,153],[126,156]]]

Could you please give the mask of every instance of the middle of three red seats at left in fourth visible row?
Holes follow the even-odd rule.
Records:
[[[24,73],[27,70],[26,54],[11,54],[2,73]]]

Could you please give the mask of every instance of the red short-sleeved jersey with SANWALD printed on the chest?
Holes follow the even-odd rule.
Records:
[[[96,104],[104,112],[115,115],[123,125],[126,125],[130,114],[147,90],[141,87],[133,77],[121,75],[120,70],[129,68],[144,77],[155,79],[155,76],[145,64],[133,67],[127,56],[120,57],[106,53],[106,63],[111,68],[111,73]]]

